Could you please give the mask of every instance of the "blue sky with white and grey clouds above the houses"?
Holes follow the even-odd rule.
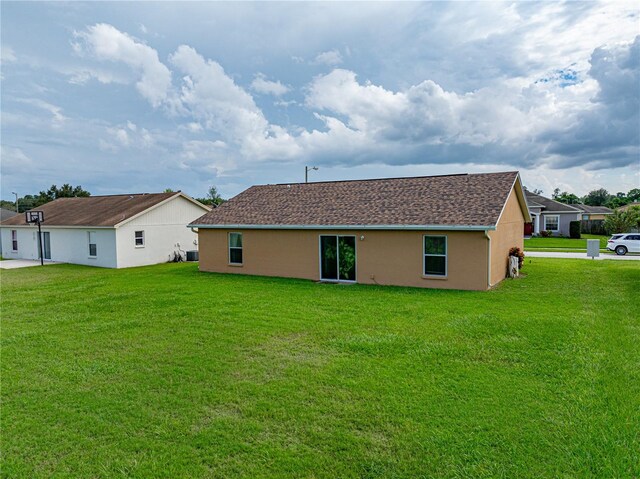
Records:
[[[640,186],[637,3],[2,2],[2,198],[518,169]]]

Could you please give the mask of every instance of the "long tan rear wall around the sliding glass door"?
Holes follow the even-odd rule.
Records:
[[[523,221],[518,234],[522,243]],[[243,233],[243,265],[228,261],[228,233]],[[485,290],[488,246],[483,231],[199,230],[200,270],[320,279],[320,235],[356,236],[356,281],[363,284]],[[423,276],[423,236],[447,236],[447,277]],[[361,237],[364,236],[364,239]]]

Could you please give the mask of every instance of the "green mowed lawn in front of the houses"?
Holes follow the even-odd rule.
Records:
[[[3,477],[638,477],[640,269],[489,292],[2,271]]]

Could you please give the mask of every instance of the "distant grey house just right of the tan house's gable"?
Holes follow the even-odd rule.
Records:
[[[581,218],[576,205],[567,205],[541,195],[525,191],[531,224],[525,228],[526,234],[540,234],[550,231],[554,236],[569,236],[569,223]]]

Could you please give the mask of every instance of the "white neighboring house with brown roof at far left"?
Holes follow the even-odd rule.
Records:
[[[198,249],[187,225],[209,211],[182,192],[59,198],[42,205],[44,259],[104,268],[169,261]],[[7,259],[39,259],[38,227],[21,214],[0,223]]]

